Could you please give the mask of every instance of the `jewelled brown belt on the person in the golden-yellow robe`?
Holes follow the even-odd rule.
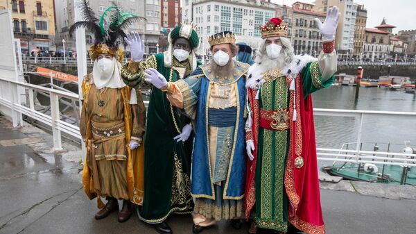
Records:
[[[123,121],[117,121],[117,122],[105,122],[105,123],[99,123],[99,122],[91,122],[92,126],[92,133],[96,137],[116,137],[119,135],[125,134],[125,124]]]

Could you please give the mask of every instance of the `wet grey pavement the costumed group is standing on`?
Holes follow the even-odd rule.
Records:
[[[0,233],[156,233],[134,215],[120,224],[113,213],[95,220],[96,200],[80,183],[81,153],[63,142],[55,153],[51,135],[12,128],[0,115]],[[416,188],[369,183],[321,183],[327,233],[416,233]],[[172,215],[174,233],[192,233],[191,215]],[[220,222],[202,233],[247,233]],[[271,233],[271,232],[266,232]]]

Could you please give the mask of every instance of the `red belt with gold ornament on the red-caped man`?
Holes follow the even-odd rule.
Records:
[[[260,126],[268,130],[284,131],[290,128],[288,109],[264,110],[260,108]]]

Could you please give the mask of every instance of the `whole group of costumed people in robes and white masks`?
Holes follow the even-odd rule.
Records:
[[[80,121],[83,184],[97,199],[95,218],[118,211],[125,222],[136,207],[158,233],[173,233],[171,214],[192,214],[193,233],[222,219],[237,229],[250,222],[249,233],[325,233],[311,93],[334,79],[338,8],[324,23],[316,19],[318,58],[295,56],[286,22],[272,18],[254,60],[252,48],[223,31],[207,38],[205,64],[196,58],[192,24],[175,27],[168,50],[144,59],[139,34],[123,33],[135,16],[115,8],[99,20],[85,2],[87,23],[71,27],[88,24],[96,37]],[[119,37],[131,51],[124,65]],[[145,83],[153,86],[147,112]]]

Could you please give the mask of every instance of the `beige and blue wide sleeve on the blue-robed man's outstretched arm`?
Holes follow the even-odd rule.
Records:
[[[182,109],[184,114],[191,119],[195,119],[202,76],[203,74],[198,68],[187,78],[168,83],[166,89],[162,90],[166,92],[168,101],[173,106]]]

